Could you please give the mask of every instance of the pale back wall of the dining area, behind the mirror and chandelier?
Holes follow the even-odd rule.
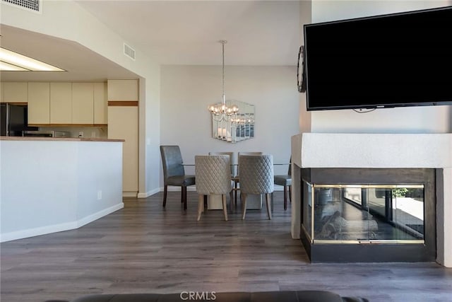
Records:
[[[179,145],[185,163],[209,151],[263,151],[288,163],[290,137],[299,132],[296,72],[295,66],[225,66],[226,98],[251,103],[256,112],[255,137],[232,144],[211,137],[207,110],[221,101],[221,66],[162,66],[161,144]],[[287,166],[275,173],[287,173]]]

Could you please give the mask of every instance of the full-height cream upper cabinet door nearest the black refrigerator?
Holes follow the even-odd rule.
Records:
[[[50,83],[28,83],[28,124],[49,124]]]

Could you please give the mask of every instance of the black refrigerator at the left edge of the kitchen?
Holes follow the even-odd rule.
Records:
[[[37,130],[28,127],[27,105],[1,103],[0,135],[6,137],[22,137],[24,130]]]

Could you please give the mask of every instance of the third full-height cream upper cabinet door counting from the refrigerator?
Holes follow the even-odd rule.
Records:
[[[93,83],[72,83],[72,123],[93,124]]]

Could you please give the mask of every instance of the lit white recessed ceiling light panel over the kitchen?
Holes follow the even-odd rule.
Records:
[[[66,71],[3,47],[0,47],[0,62],[0,71]]]

